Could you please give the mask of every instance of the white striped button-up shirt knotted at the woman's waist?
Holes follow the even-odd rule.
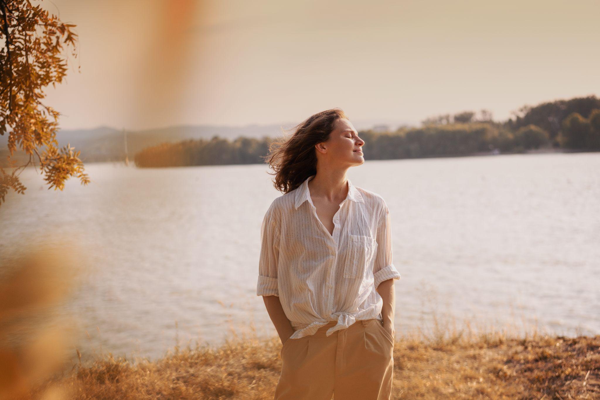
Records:
[[[335,213],[330,234],[310,197],[309,176],[275,199],[263,218],[257,296],[279,296],[295,332],[313,335],[329,321],[329,336],[358,320],[381,320],[375,290],[400,279],[392,264],[389,209],[379,194],[348,182],[348,195]]]

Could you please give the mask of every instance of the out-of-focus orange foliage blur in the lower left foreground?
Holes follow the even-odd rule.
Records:
[[[73,351],[73,321],[56,311],[76,282],[76,258],[67,242],[32,243],[0,261],[0,400],[69,399],[49,380]]]

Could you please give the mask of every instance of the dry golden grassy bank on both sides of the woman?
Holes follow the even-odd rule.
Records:
[[[434,326],[433,333],[397,332],[392,398],[600,398],[600,335],[534,330],[518,338],[506,329]],[[250,336],[234,335],[221,347],[175,347],[155,362],[105,357],[50,383],[53,393],[74,399],[272,399],[281,342]]]

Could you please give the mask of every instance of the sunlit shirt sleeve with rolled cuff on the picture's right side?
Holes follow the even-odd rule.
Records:
[[[385,201],[377,224],[377,254],[373,264],[375,288],[388,279],[400,279],[400,272],[392,264],[392,221]]]

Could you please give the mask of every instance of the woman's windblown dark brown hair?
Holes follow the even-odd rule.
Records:
[[[292,128],[290,137],[284,136],[269,143],[269,167],[275,173],[275,189],[289,193],[299,187],[309,176],[317,173],[317,155],[314,146],[326,142],[334,130],[335,121],[348,118],[339,108],[325,110],[311,115]]]

